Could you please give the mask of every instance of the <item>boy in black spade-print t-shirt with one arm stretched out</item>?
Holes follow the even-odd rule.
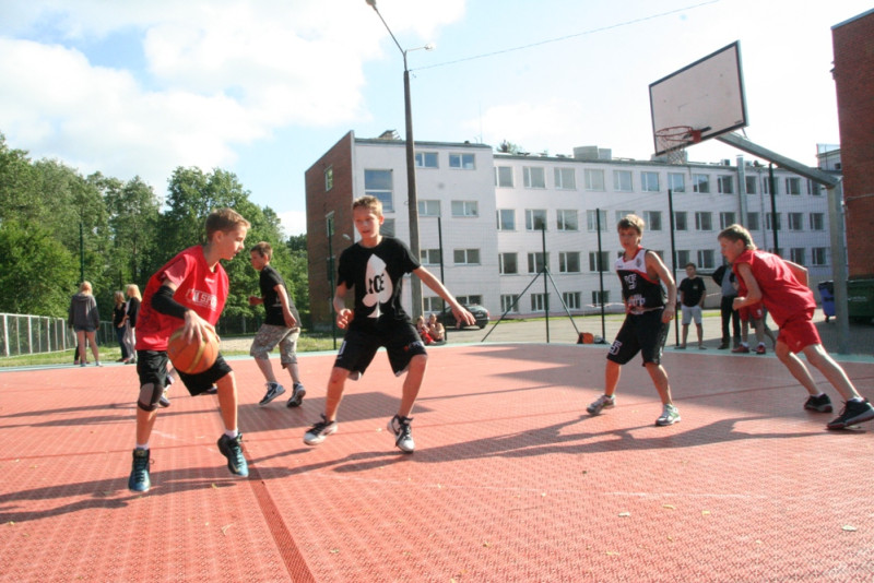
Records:
[[[410,421],[418,390],[425,377],[427,354],[410,317],[401,307],[403,276],[414,273],[422,283],[444,298],[459,322],[474,323],[474,318],[444,287],[439,279],[418,263],[410,249],[393,237],[379,234],[382,203],[376,197],[361,197],[352,204],[352,218],[361,240],[340,255],[333,306],[336,325],[346,330],[343,345],[328,380],[322,420],[304,436],[304,443],[318,445],[336,431],[336,411],[346,379],[358,379],[380,346],[386,347],[397,376],[406,372],[398,414],[389,421],[394,444],[404,453],[415,449]],[[346,293],[355,288],[355,308],[345,305]]]

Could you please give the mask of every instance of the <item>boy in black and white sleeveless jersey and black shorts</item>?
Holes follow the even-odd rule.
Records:
[[[613,393],[616,392],[619,382],[622,366],[640,353],[643,366],[647,367],[647,372],[662,400],[662,414],[656,419],[656,425],[673,425],[680,420],[680,411],[674,406],[668,372],[661,365],[661,356],[669,325],[676,310],[676,284],[661,258],[640,246],[640,240],[643,238],[642,218],[637,215],[626,215],[616,228],[624,251],[616,260],[616,274],[622,282],[625,322],[610,346],[604,372],[606,384],[604,394],[586,411],[589,415],[600,415],[602,409],[616,404]],[[662,284],[668,288],[666,302]]]

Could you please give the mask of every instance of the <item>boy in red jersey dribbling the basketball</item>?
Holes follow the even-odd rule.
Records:
[[[140,397],[137,401],[137,448],[128,488],[144,492],[151,487],[149,476],[149,438],[164,393],[167,376],[167,341],[185,326],[189,342],[212,329],[227,299],[227,273],[220,260],[232,260],[244,246],[249,222],[231,209],[213,211],[206,217],[206,243],[189,247],[161,267],[143,294],[137,320],[137,373]],[[214,329],[213,329],[214,330]],[[220,354],[204,372],[176,372],[191,395],[218,386],[218,405],[225,432],[218,450],[227,457],[232,474],[248,476],[249,468],[237,430],[237,385],[234,372]]]

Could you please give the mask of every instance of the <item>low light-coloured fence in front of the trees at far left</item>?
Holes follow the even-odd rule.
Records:
[[[55,353],[75,348],[75,333],[66,318],[0,313],[0,356]],[[101,322],[97,344],[116,342],[111,322]]]

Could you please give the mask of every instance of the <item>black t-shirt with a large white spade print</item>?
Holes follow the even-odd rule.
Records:
[[[350,329],[376,330],[388,321],[410,317],[401,306],[403,276],[420,267],[410,248],[394,237],[376,247],[359,242],[340,255],[338,284],[355,288],[355,317]]]

